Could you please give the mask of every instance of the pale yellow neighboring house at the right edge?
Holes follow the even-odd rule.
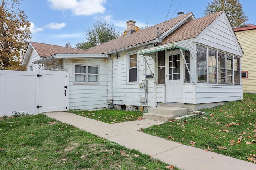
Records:
[[[256,25],[234,28],[234,32],[244,51],[241,58],[243,92],[256,93]]]

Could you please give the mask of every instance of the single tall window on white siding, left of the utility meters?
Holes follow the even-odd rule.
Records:
[[[137,82],[137,54],[129,55],[129,82]]]

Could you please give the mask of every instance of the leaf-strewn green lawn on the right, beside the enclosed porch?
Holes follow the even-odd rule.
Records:
[[[256,95],[205,109],[204,115],[168,121],[143,132],[256,163]]]

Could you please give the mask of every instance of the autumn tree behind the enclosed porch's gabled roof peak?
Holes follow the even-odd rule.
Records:
[[[242,7],[239,0],[212,0],[211,3],[208,3],[204,14],[208,15],[225,10],[232,27],[239,28],[244,27],[248,20]]]

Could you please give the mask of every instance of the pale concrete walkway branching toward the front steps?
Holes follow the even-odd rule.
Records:
[[[45,113],[48,117],[74,125],[82,130],[136,149],[162,162],[184,170],[256,170],[256,164],[214,152],[186,146],[156,136],[139,132],[141,128],[164,122],[138,120],[108,124],[68,112]]]

